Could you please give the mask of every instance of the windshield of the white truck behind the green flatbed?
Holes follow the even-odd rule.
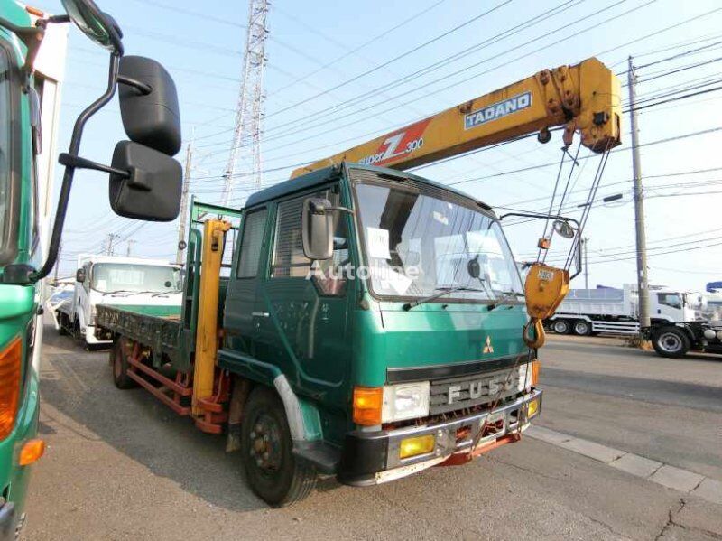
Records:
[[[180,291],[180,270],[172,266],[97,263],[90,287],[100,293],[170,293]]]

